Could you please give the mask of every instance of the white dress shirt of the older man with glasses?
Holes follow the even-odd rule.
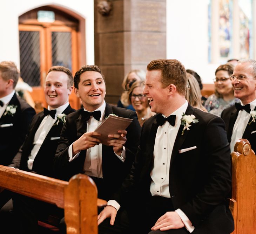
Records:
[[[254,101],[250,102],[249,104],[251,107],[251,111],[253,111],[256,106],[256,99]],[[241,105],[244,105],[244,104],[241,102]],[[249,122],[250,117],[251,117],[251,115],[248,112],[246,112],[245,110],[240,110],[238,112],[236,122],[233,127],[232,136],[231,136],[231,142],[230,142],[230,151],[231,152],[234,151],[234,147],[235,147],[237,140],[243,137],[244,130]]]

